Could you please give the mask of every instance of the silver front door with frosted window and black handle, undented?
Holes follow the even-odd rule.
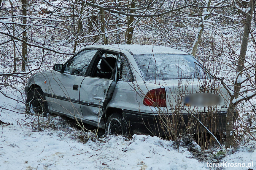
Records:
[[[48,96],[53,112],[82,118],[79,102],[80,85],[97,49],[85,49],[64,64],[64,72],[52,71],[49,78]],[[50,76],[49,76],[50,77]]]

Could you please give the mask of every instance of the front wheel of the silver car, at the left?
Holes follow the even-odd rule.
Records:
[[[37,115],[47,116],[47,102],[45,101],[43,91],[41,88],[34,88],[28,92],[26,106],[28,111],[34,111]]]

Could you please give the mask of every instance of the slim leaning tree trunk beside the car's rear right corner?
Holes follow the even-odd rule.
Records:
[[[241,50],[238,58],[238,65],[236,67],[236,81],[234,84],[234,95],[230,97],[230,104],[227,112],[227,120],[226,120],[226,132],[227,132],[227,140],[226,140],[226,148],[232,148],[234,145],[234,125],[233,125],[233,114],[236,108],[236,105],[232,103],[234,98],[238,98],[239,91],[241,89],[241,83],[237,82],[237,78],[242,76],[242,70],[244,69],[244,59],[247,51],[248,38],[251,29],[252,22],[252,14],[254,10],[255,0],[250,0],[249,7],[250,10],[246,14],[246,20],[244,25],[244,35],[241,43]]]

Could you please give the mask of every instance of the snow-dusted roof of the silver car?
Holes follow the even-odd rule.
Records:
[[[109,45],[92,45],[86,48],[104,48],[109,50],[125,50],[132,55],[141,54],[188,54],[185,51],[164,47],[164,46],[151,46],[151,45],[139,45],[139,44],[109,44]]]

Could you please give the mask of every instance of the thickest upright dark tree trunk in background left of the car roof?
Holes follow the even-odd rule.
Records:
[[[21,0],[22,4],[22,15],[27,16],[27,0]],[[23,41],[27,42],[27,31],[26,31],[26,25],[27,25],[27,18],[22,17],[22,23],[23,23]],[[27,44],[22,43],[22,64],[21,64],[21,71],[25,72],[26,71],[26,61],[27,61]]]

